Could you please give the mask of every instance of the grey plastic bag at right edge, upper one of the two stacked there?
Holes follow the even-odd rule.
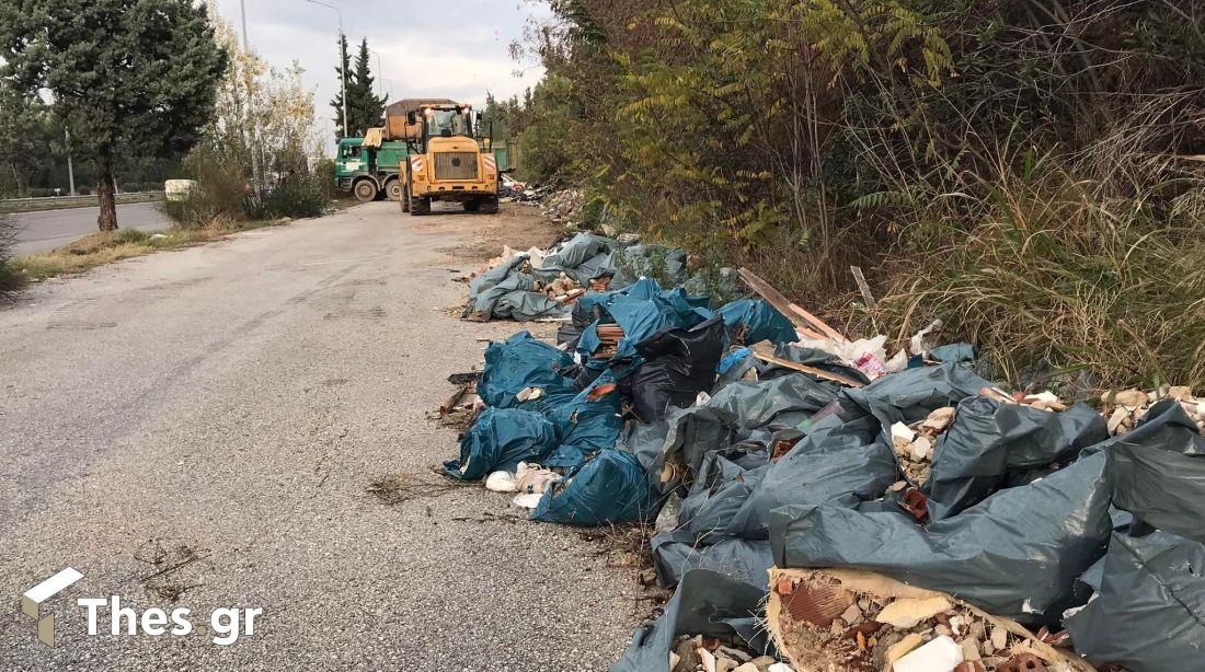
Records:
[[[1104,449],[1113,460],[1113,506],[1159,530],[1205,542],[1205,437],[1180,403],[1156,403]]]

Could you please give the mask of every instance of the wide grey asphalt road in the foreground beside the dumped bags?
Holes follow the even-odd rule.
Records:
[[[451,317],[452,278],[480,264],[472,231],[498,217],[530,216],[370,204],[0,310],[0,667],[606,670],[642,615],[631,570],[430,472],[457,454],[427,418],[445,378],[519,329]],[[383,474],[415,499],[368,494]],[[42,605],[51,649],[17,596],[66,566],[84,578]],[[88,636],[76,600],[113,595],[194,626],[221,607],[263,615],[219,646],[113,636],[105,607]]]

